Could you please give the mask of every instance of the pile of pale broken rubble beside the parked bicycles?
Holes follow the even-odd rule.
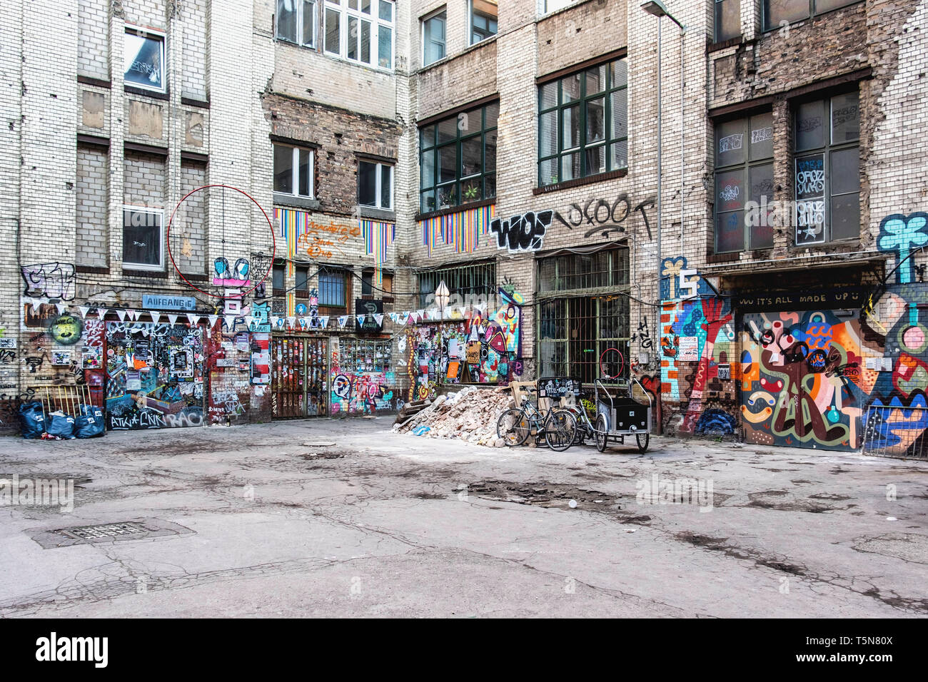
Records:
[[[496,437],[496,421],[504,410],[513,406],[508,387],[491,391],[468,386],[456,393],[439,395],[432,402],[416,401],[405,405],[393,424],[393,431],[502,447],[503,439]]]

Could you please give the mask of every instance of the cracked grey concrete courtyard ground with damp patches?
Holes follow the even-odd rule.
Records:
[[[0,507],[0,616],[928,614],[924,462],[653,437],[644,456],[554,453],[391,424],[0,439],[0,478],[78,486],[71,513]],[[702,495],[649,495],[655,475]],[[124,521],[162,530],[57,533]]]

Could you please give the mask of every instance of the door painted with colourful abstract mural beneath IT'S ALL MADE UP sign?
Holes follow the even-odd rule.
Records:
[[[741,341],[748,443],[857,449],[862,393],[856,314],[745,314]]]

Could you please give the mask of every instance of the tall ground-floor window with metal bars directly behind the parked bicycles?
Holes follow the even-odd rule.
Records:
[[[628,376],[628,250],[538,260],[538,376],[592,383],[599,357],[616,348]]]

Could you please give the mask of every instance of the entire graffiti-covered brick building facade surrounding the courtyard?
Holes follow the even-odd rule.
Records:
[[[342,416],[605,367],[664,431],[921,448],[923,1],[668,4],[685,32],[624,0],[16,5],[7,409],[83,383],[121,424]],[[178,204],[170,253],[126,251]],[[119,359],[151,352],[143,294],[200,317],[148,355],[198,349],[170,396]],[[84,366],[88,329],[117,360]]]

